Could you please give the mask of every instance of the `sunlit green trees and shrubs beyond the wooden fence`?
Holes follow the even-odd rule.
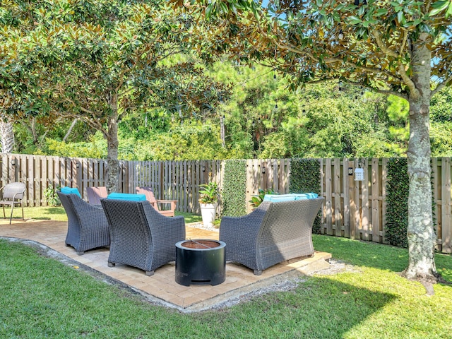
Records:
[[[242,73],[238,74],[235,69],[237,67],[225,63],[213,68],[213,71],[218,70],[219,80],[227,81],[229,75],[232,81],[237,81],[232,100],[220,105],[216,111],[218,115],[225,115],[225,147],[220,139],[218,115],[180,119],[178,114],[169,116],[169,112],[160,107],[131,111],[122,119],[119,123],[119,159],[199,160],[200,154],[204,159],[406,155],[409,129],[406,100],[345,86],[338,96],[337,84],[333,82],[307,85],[302,95],[284,97],[284,82],[278,80],[275,84],[275,80],[267,75],[258,78],[263,89],[258,90],[255,81],[249,81],[253,87],[243,89],[242,82],[246,82],[246,77],[259,77],[262,70],[240,67]],[[452,138],[448,137],[452,133],[451,93],[445,88],[432,100],[432,156],[452,155]],[[274,109],[275,102],[278,109]],[[254,105],[259,105],[260,110],[257,111]],[[271,114],[266,114],[266,110]],[[269,118],[264,119],[266,116],[280,122],[272,125]],[[258,119],[261,119],[259,126],[262,129],[256,128]],[[255,122],[254,129],[252,121]],[[18,153],[107,157],[107,143],[102,133],[99,131],[92,136],[90,127],[81,122],[71,134],[74,135],[71,141],[78,144],[61,143],[69,122],[38,119],[37,135],[45,133],[48,138],[41,141],[39,137],[40,142],[36,144],[28,129],[15,124]],[[80,137],[76,138],[75,134]]]

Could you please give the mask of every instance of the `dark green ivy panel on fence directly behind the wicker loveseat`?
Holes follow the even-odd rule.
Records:
[[[317,159],[292,159],[290,162],[290,193],[316,193],[321,191],[320,162]],[[321,211],[314,220],[312,232],[321,233]]]

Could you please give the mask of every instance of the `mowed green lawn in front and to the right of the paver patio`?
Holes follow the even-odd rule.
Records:
[[[319,235],[314,247],[353,266],[183,314],[0,239],[0,338],[452,338],[452,286],[427,297],[401,278],[406,249]],[[452,281],[450,255],[437,254],[436,266]]]

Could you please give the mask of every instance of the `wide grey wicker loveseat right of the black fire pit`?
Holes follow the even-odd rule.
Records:
[[[220,240],[226,261],[242,263],[261,275],[285,260],[314,254],[312,225],[323,198],[263,202],[243,217],[223,217]]]

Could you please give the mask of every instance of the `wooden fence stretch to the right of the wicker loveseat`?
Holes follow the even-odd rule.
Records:
[[[386,176],[388,159],[321,159],[321,194],[325,197],[325,234],[387,244]],[[355,181],[359,162],[364,180]],[[451,158],[432,158],[437,249],[452,252]]]

